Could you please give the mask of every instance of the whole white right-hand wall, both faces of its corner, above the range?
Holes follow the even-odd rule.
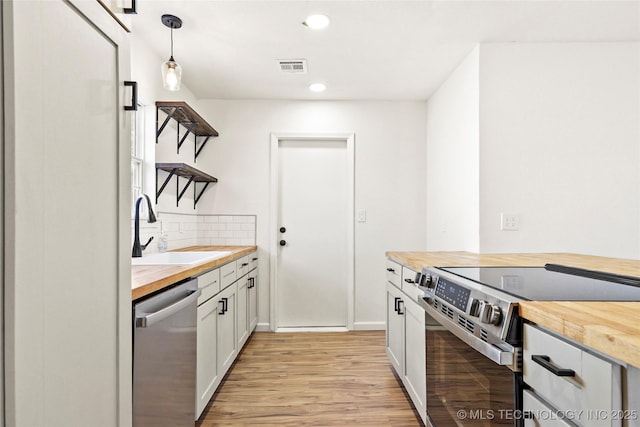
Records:
[[[427,114],[429,249],[470,250],[479,236],[484,253],[640,257],[638,43],[480,45]],[[457,195],[475,185],[465,205]],[[500,230],[502,212],[518,231]]]

